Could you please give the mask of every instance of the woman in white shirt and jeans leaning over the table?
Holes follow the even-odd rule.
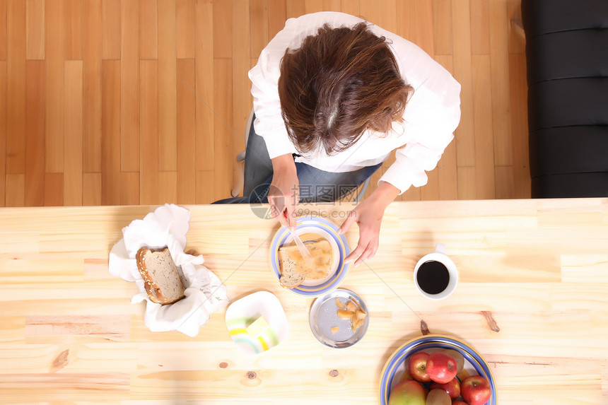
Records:
[[[339,199],[396,149],[378,188],[339,229],[359,225],[347,261],[373,257],[388,204],[426,184],[425,170],[452,141],[460,84],[411,42],[334,12],[287,20],[249,77],[255,134],[245,197],[218,202],[269,202],[281,225],[293,228],[298,202]]]

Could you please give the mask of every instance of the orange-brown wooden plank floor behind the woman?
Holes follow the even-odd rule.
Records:
[[[520,0],[0,0],[0,206],[230,196],[247,71],[315,11],[402,35],[462,84],[455,141],[399,199],[530,197]]]

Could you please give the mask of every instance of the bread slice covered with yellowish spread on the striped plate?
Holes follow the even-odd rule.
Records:
[[[332,246],[327,240],[307,243],[306,248],[312,256],[312,262],[305,262],[300,250],[295,245],[279,248],[281,278],[279,282],[285,288],[299,286],[305,280],[320,280],[329,275],[332,269]]]

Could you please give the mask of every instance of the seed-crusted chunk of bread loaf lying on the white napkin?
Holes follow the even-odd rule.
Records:
[[[185,297],[186,288],[167,247],[160,251],[142,247],[137,251],[136,261],[146,293],[153,303],[173,304]]]

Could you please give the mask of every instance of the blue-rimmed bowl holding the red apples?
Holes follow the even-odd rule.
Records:
[[[444,349],[452,349],[462,354],[464,357],[464,370],[467,370],[469,375],[481,375],[488,380],[492,394],[490,400],[485,405],[498,404],[496,382],[486,360],[464,341],[443,335],[427,335],[411,339],[411,341],[403,344],[397,351],[392,353],[382,369],[380,387],[378,389],[378,404],[388,404],[390,392],[399,383],[400,377],[407,367],[406,361],[409,356],[419,351],[431,353]]]

